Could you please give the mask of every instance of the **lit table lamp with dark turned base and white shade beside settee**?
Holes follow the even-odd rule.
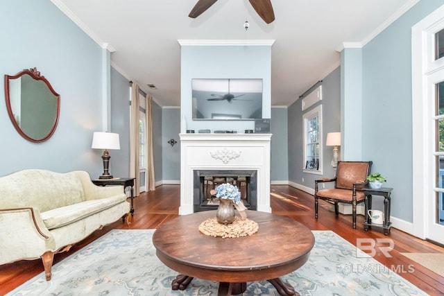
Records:
[[[92,149],[103,149],[103,174],[99,179],[112,179],[110,175],[110,153],[108,149],[120,149],[119,134],[114,134],[112,132],[94,132],[92,136]]]

